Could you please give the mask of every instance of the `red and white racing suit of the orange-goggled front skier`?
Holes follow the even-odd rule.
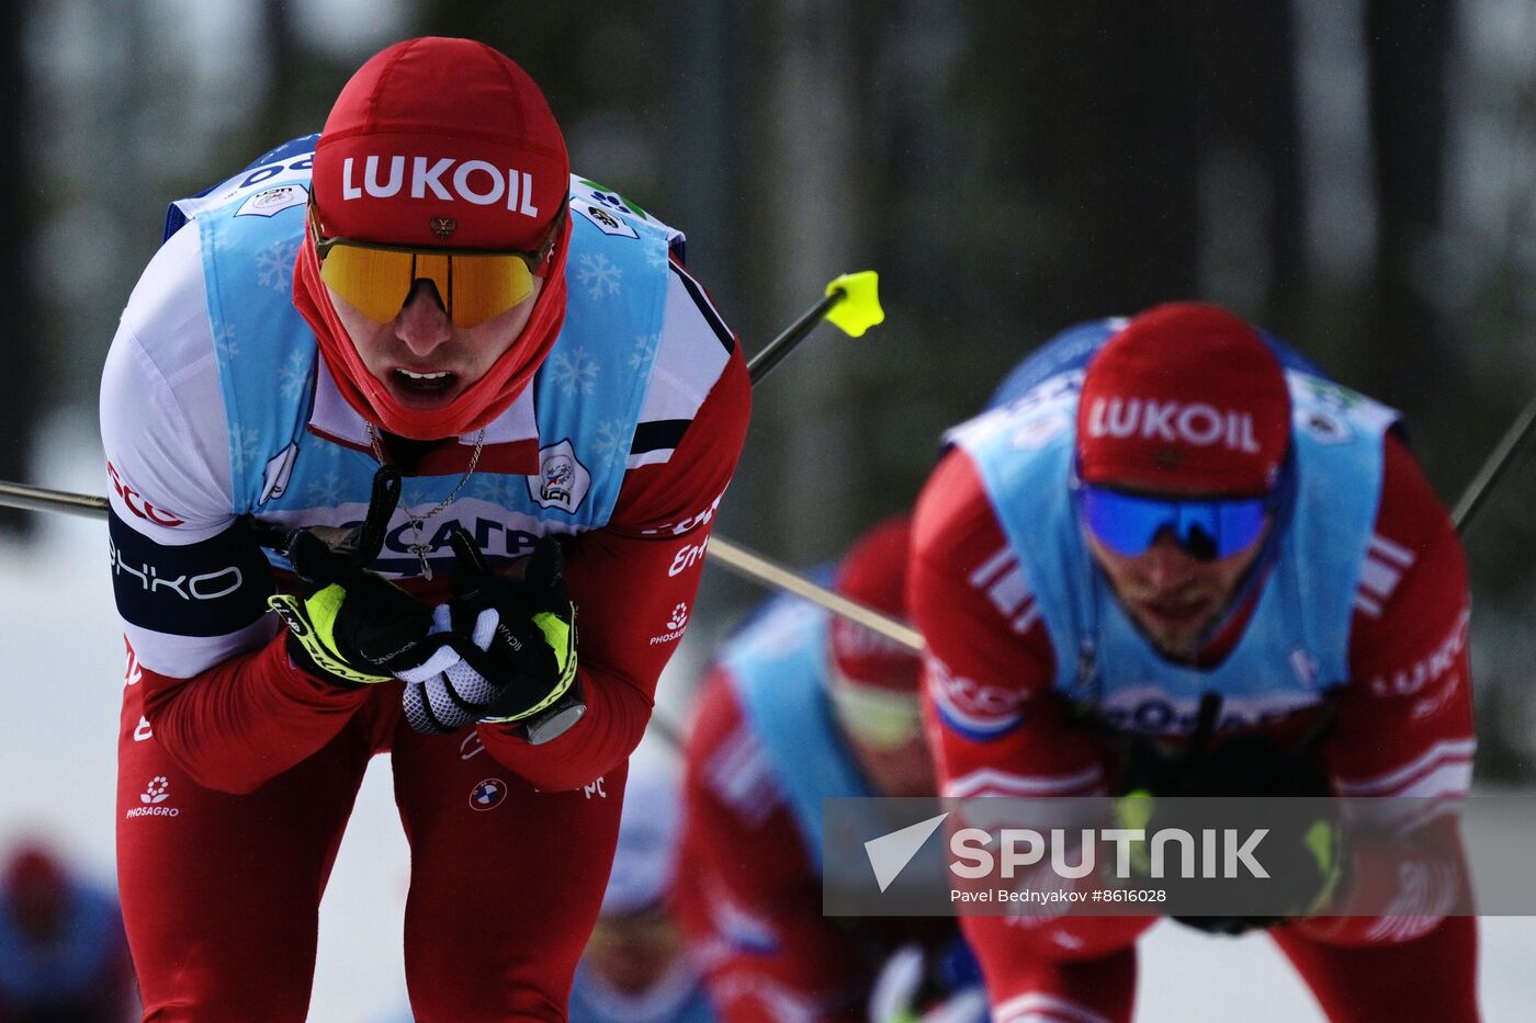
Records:
[[[144,1018],[304,1018],[319,897],[364,768],[381,751],[412,849],[404,948],[416,1018],[565,1018],[613,857],[627,757],[693,605],[745,438],[740,346],[676,257],[656,270],[665,307],[617,502],[567,548],[587,713],[541,747],[496,725],[427,737],[404,722],[398,682],[343,688],[315,677],[289,659],[276,616],[260,613],[292,581],[263,581],[264,558],[230,512],[240,438],[230,442],[214,353],[261,339],[214,336],[200,246],[194,224],[155,255],[101,390],[114,536],[132,541],[118,544],[115,570],[152,590],[169,576],[146,565],[186,573],[206,553],[260,582],[230,598],[255,617],[189,604],[157,627],[124,621],[118,880]],[[579,257],[578,247],[571,267]],[[292,249],[287,260],[276,284],[263,283],[283,286]],[[568,301],[588,290],[573,284]],[[637,338],[613,344],[621,359]],[[536,379],[488,427],[479,472],[538,476],[539,449],[559,438],[530,433],[527,402],[536,390],[539,401],[581,401],[584,379],[565,382],[539,390]],[[324,373],[273,381],[289,384],[315,395],[310,433],[367,450]],[[465,472],[470,449],[456,441],[419,470]],[[412,467],[402,468],[409,495]],[[329,507],[367,498],[321,495]],[[441,521],[453,518],[453,505],[442,510]],[[442,584],[439,574],[404,585],[430,604]]]

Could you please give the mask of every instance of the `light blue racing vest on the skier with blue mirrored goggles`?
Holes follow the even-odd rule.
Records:
[[[1298,479],[1290,522],[1238,645],[1220,665],[1195,668],[1161,657],[1141,636],[1078,530],[1069,479],[1083,363],[949,435],[975,462],[1020,559],[1051,637],[1057,690],[1111,727],[1177,734],[1192,728],[1207,690],[1224,697],[1218,727],[1232,728],[1281,717],[1344,684],[1381,498],[1382,433],[1396,413],[1287,370]]]

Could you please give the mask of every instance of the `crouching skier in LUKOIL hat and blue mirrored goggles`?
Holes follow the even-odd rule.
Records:
[[[1467,793],[1467,567],[1393,410],[1180,303],[1058,335],[949,439],[909,587],[943,794],[1135,794],[1155,826],[1160,797]],[[1266,929],[1332,1020],[1478,1017],[1453,819],[1264,842],[1289,911],[1178,920]],[[1155,920],[963,926],[1000,1023],[1129,1020]]]

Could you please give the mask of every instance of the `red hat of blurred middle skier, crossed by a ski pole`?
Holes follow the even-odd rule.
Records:
[[[851,601],[906,619],[906,547],[912,521],[886,519],[866,531],[837,565],[834,588]],[[899,693],[917,693],[922,662],[880,633],[834,616],[833,664],[843,679]]]

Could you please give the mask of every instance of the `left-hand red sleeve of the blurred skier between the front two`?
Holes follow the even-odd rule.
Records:
[[[700,691],[684,791],[677,914],[719,1017],[862,1018],[859,949],[822,915],[820,877],[722,671]]]

